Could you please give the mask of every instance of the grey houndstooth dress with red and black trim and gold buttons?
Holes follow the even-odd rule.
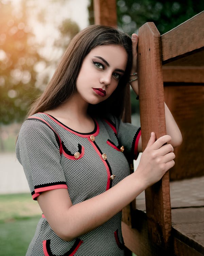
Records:
[[[94,131],[79,133],[45,113],[24,121],[16,156],[34,200],[43,191],[66,188],[74,205],[103,193],[130,174],[128,160],[137,158],[140,128],[113,116],[94,122]],[[26,255],[122,256],[121,212],[69,242],[57,236],[42,214]]]

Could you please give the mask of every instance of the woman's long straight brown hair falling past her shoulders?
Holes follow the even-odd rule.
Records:
[[[77,77],[86,55],[96,46],[109,44],[121,45],[126,50],[128,62],[125,73],[113,94],[99,104],[90,104],[88,112],[92,116],[104,116],[107,113],[121,116],[124,106],[125,85],[128,82],[132,67],[132,41],[128,34],[102,25],[88,26],[75,35],[44,93],[31,105],[28,115],[54,109],[68,100],[76,90]]]

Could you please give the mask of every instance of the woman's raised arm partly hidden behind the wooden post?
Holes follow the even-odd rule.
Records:
[[[133,67],[131,73],[136,72],[137,70],[137,43],[138,37],[136,34],[132,35],[132,48],[133,48]],[[131,77],[132,78],[132,77]],[[136,95],[139,94],[138,92],[138,80],[130,82],[131,87],[133,88]],[[166,103],[165,104],[165,119],[166,119],[166,132],[168,135],[171,136],[171,145],[173,147],[177,147],[182,143],[182,134],[177,126],[170,110],[168,109]],[[142,141],[141,137],[138,142],[138,152],[142,152]]]

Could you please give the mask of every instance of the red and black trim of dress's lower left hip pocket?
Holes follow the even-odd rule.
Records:
[[[73,246],[70,248],[70,250],[68,252],[66,252],[65,254],[62,254],[60,256],[73,256],[77,250],[79,249],[79,246],[83,243],[82,240],[80,240],[79,238],[76,239],[75,243],[73,244]],[[44,240],[43,241],[43,252],[45,256],[56,256],[55,254],[53,254],[51,252],[50,249],[50,240]]]

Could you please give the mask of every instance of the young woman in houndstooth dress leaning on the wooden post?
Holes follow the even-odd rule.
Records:
[[[82,30],[23,123],[16,154],[43,212],[28,256],[124,255],[121,210],[173,167],[182,137],[165,105],[168,135],[151,133],[130,175],[140,128],[120,117],[128,81],[138,94],[136,47],[136,34]]]

